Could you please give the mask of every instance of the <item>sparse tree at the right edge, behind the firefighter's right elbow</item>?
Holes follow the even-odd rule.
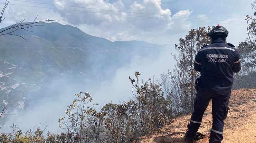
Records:
[[[252,9],[256,11],[256,0],[252,3]],[[248,37],[236,47],[240,53],[242,70],[234,75],[233,89],[256,87],[256,19],[246,15],[245,20]]]

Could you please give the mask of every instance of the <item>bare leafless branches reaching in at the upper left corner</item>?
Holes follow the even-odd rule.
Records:
[[[5,9],[7,8],[8,4],[10,3],[10,1],[11,0],[6,0],[5,1],[5,5],[4,5],[4,7],[3,7],[2,11],[1,11],[1,15],[0,15],[0,24],[5,19],[5,18],[3,18],[3,15],[4,15]],[[0,36],[2,36],[2,35],[14,35],[14,36],[21,37],[22,39],[27,41],[26,38],[24,38],[21,35],[17,35],[14,32],[17,31],[17,30],[26,30],[28,32],[32,32],[32,31],[30,31],[28,29],[31,28],[31,27],[35,27],[35,26],[44,26],[44,25],[41,25],[41,24],[39,25],[39,23],[50,22],[50,21],[58,21],[58,20],[50,20],[50,19],[36,21],[37,17],[38,16],[36,16],[36,18],[34,19],[33,22],[24,23],[25,19],[23,19],[19,23],[13,24],[12,26],[3,29],[2,31],[0,31]]]

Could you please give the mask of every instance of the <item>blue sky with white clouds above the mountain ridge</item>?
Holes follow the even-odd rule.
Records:
[[[1,1],[4,2],[5,0]],[[246,38],[246,21],[244,20],[245,16],[247,14],[252,15],[254,12],[251,9],[251,3],[253,2],[252,0],[24,1],[12,0],[10,2],[10,5],[4,15],[6,19],[3,23],[1,23],[0,27],[5,27],[11,25],[12,23],[19,22],[23,18],[26,18],[27,21],[32,21],[33,18],[35,18],[38,14],[39,20],[48,18],[59,20],[59,22],[62,24],[70,24],[76,26],[83,30],[85,33],[98,37],[104,37],[111,41],[143,40],[151,43],[167,44],[171,46],[177,43],[180,37],[184,37],[184,35],[191,28],[198,28],[199,26],[207,27],[217,24],[221,24],[229,30],[230,35],[227,41],[237,45],[240,41],[244,41]],[[42,2],[48,4],[31,2]],[[65,5],[77,7],[67,7]],[[42,7],[48,7],[50,9]],[[79,7],[90,7],[94,9],[84,9]],[[69,9],[70,11],[56,9]],[[120,13],[95,9],[116,10],[134,13]],[[94,13],[79,11],[92,11]],[[111,15],[109,13],[121,15]],[[146,13],[152,15],[135,13]],[[133,15],[135,17],[127,15]],[[157,18],[145,18],[145,16]],[[239,21],[242,23],[230,21]]]

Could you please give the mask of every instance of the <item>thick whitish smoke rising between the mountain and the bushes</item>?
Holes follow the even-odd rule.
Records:
[[[8,121],[4,123],[1,132],[11,132],[13,125],[17,125],[22,131],[35,129],[37,127],[47,127],[46,130],[53,133],[60,133],[63,130],[58,127],[58,119],[65,115],[67,105],[71,105],[74,94],[80,91],[87,91],[93,96],[93,102],[99,103],[96,108],[104,106],[108,102],[119,103],[133,98],[132,84],[129,76],[135,78],[135,71],[142,74],[139,82],[146,81],[148,78],[155,79],[168,69],[174,66],[171,56],[171,49],[164,49],[159,53],[150,56],[141,57],[134,55],[131,62],[124,64],[112,73],[112,78],[103,81],[95,81],[93,78],[89,81],[72,80],[69,74],[55,77],[51,83],[46,83],[47,91],[39,95],[38,101],[29,103],[28,108],[17,110],[14,115],[8,116]],[[152,56],[153,55],[153,56]],[[119,59],[116,59],[119,60]],[[100,71],[98,71],[100,72]]]

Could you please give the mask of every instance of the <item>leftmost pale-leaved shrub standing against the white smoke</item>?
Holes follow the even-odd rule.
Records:
[[[94,115],[97,112],[93,109],[94,107],[86,107],[86,104],[92,102],[93,98],[88,92],[80,92],[75,94],[75,97],[78,99],[74,99],[73,104],[68,105],[66,110],[68,117],[59,118],[59,127],[67,129],[67,134],[71,135],[73,142],[89,142],[92,137],[94,139],[94,133],[97,132],[97,125],[94,121],[96,120]]]

